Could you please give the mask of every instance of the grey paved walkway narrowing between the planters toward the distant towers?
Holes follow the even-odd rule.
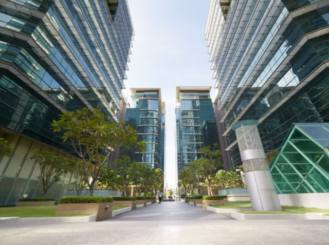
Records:
[[[174,220],[231,220],[221,214],[204,210],[186,202],[161,202],[103,221],[174,221]]]

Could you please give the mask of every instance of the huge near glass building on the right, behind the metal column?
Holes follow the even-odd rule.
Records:
[[[222,135],[228,142],[226,150],[230,151],[232,165],[240,166],[231,126],[256,119],[271,163],[291,125],[329,122],[329,3],[210,2],[205,35],[217,88],[215,103],[225,126]],[[296,171],[294,164],[300,164],[300,160],[296,155],[289,159],[291,166],[270,166],[272,173],[281,175],[280,180],[273,175],[275,181],[285,182],[278,182],[281,193],[286,186],[291,191],[291,186],[298,185],[285,181],[284,175],[299,175],[301,179],[316,175],[316,167],[312,173],[299,166]]]

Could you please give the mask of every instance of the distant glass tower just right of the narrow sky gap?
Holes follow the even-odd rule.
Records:
[[[200,157],[198,149],[220,144],[210,89],[177,87],[175,133],[178,174],[187,163]]]

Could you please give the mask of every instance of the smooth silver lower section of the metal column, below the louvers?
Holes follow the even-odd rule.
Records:
[[[245,173],[253,211],[282,211],[270,171]]]

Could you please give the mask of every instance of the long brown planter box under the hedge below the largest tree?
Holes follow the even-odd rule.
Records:
[[[106,209],[106,206],[108,208]],[[59,203],[55,215],[96,214],[96,221],[112,217],[113,202],[103,203]]]

